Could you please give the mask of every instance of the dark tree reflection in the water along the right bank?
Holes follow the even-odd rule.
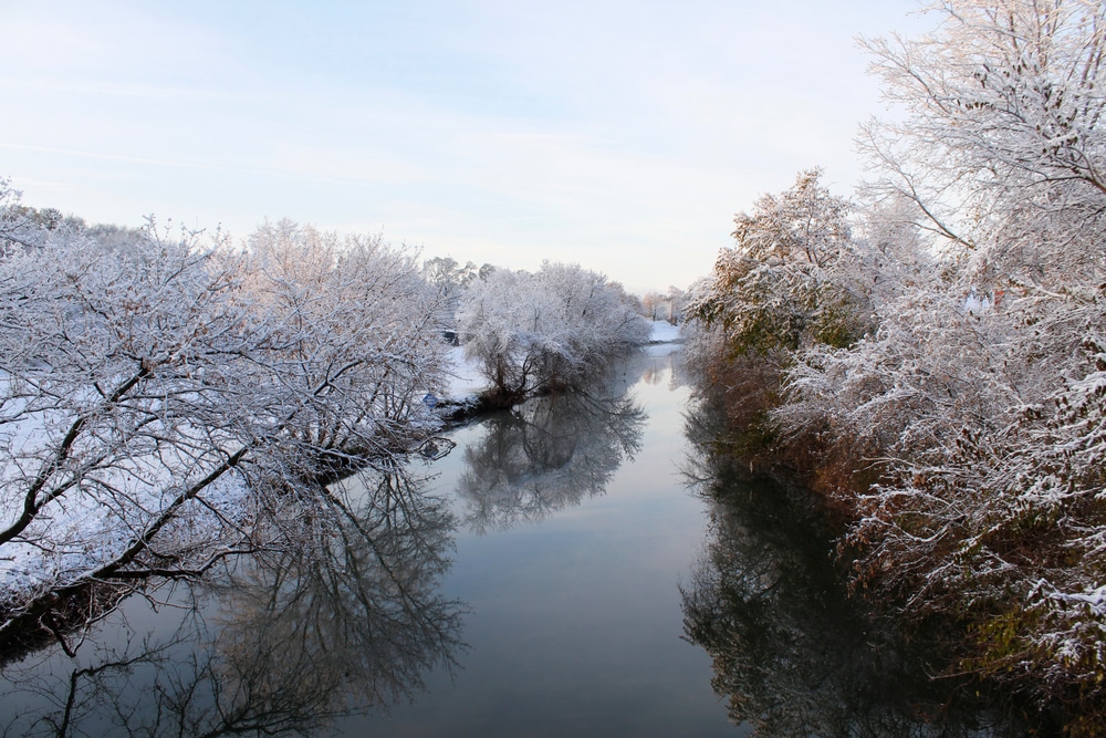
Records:
[[[757,736],[1022,735],[929,679],[917,646],[846,597],[824,512],[803,490],[750,480],[708,403],[687,417],[686,469],[710,506],[681,588],[685,634],[713,661],[714,692]]]

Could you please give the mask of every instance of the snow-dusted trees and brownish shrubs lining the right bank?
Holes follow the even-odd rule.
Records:
[[[904,115],[855,201],[737,217],[691,358],[754,466],[848,520],[855,590],[958,626],[958,671],[1106,730],[1106,7],[948,0],[869,40]]]

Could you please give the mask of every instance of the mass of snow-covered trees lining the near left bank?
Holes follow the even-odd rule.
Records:
[[[60,228],[0,260],[0,634],[50,590],[202,571],[253,506],[413,449],[437,308],[410,254],[290,222],[246,252]]]

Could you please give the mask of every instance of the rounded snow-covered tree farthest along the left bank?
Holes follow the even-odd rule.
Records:
[[[499,269],[474,281],[458,320],[466,355],[504,399],[574,386],[649,336],[619,283],[554,262],[534,273]]]

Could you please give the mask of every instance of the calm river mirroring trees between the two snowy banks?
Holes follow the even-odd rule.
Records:
[[[1008,735],[865,625],[817,516],[726,468],[681,375],[654,346],[345,480],[301,549],[9,655],[4,735]]]

